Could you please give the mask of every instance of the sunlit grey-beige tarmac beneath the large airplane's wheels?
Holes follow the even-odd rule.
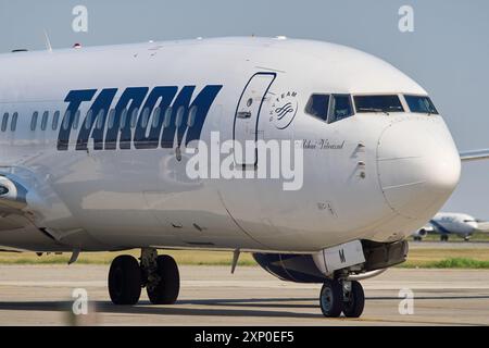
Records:
[[[325,319],[319,285],[285,283],[259,268],[181,266],[174,306],[110,303],[105,265],[0,266],[0,325],[489,325],[489,271],[393,269],[364,281],[360,320]],[[71,311],[85,288],[89,314]],[[414,314],[400,314],[399,290],[414,294]]]

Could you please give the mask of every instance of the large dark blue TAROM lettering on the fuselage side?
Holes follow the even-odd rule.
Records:
[[[72,130],[78,130],[76,150],[179,148],[198,140],[209,109],[222,89],[209,85],[196,94],[196,86],[159,86],[126,88],[114,108],[117,88],[72,90],[60,133],[58,150],[70,147]],[[97,97],[96,97],[97,96]],[[78,127],[83,103],[91,102]]]

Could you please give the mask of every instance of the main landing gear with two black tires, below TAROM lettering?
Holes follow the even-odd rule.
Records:
[[[131,256],[120,256],[109,271],[109,294],[114,304],[136,304],[146,287],[153,304],[173,304],[180,290],[175,260],[158,256],[155,249],[142,249],[140,262]]]

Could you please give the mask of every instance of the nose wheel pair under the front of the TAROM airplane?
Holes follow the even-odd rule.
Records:
[[[319,304],[326,318],[338,318],[341,312],[347,318],[360,318],[365,295],[356,281],[327,279],[321,289]]]

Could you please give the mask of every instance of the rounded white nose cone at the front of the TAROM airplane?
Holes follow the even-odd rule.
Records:
[[[387,203],[411,219],[429,219],[459,184],[461,161],[444,123],[391,124],[377,149],[378,176]]]

